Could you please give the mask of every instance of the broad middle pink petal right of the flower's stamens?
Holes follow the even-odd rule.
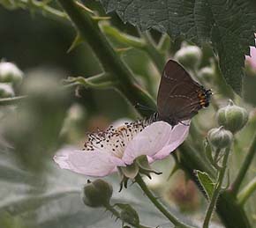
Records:
[[[171,126],[164,121],[157,121],[143,129],[135,136],[124,151],[125,164],[132,164],[140,155],[154,156],[169,143]]]

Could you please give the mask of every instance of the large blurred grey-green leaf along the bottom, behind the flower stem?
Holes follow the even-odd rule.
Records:
[[[115,222],[115,218],[104,209],[93,209],[83,204],[81,192],[87,177],[49,164],[44,178],[34,181],[36,176],[20,169],[12,157],[9,152],[0,152],[0,215],[8,213],[12,223],[21,219],[20,222],[26,222],[29,228],[121,226],[120,220]],[[113,204],[131,204],[138,211],[141,224],[170,227],[169,221],[154,209],[135,185],[118,193],[117,178],[112,176],[106,180],[114,187]]]

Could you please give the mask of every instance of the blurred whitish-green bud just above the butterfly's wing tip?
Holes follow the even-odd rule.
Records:
[[[185,68],[193,70],[198,68],[201,62],[202,51],[197,46],[183,43],[182,48],[177,51],[174,58]]]

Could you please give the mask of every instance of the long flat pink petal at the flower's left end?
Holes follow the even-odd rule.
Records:
[[[64,169],[88,176],[102,177],[113,173],[117,165],[124,166],[124,162],[107,152],[75,151],[64,148],[56,153],[55,162]]]

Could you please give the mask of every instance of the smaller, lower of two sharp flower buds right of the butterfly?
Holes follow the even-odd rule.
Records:
[[[230,130],[223,129],[220,127],[218,129],[210,129],[207,134],[209,143],[211,143],[215,148],[226,148],[230,146],[233,139],[233,134]]]

